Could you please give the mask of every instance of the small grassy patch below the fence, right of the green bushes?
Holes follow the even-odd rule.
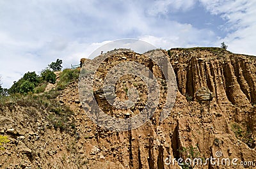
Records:
[[[63,91],[70,82],[77,80],[79,78],[80,69],[65,69],[60,74],[60,80],[57,83],[58,91]]]

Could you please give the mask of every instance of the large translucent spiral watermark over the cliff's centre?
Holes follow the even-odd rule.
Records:
[[[145,41],[125,39],[103,45],[88,58],[92,60],[86,59],[79,75],[79,98],[86,115],[98,126],[111,131],[138,128],[159,110],[163,99],[159,121],[168,117],[175,103],[177,84],[172,65],[162,50]],[[116,94],[116,84],[125,75],[138,77],[145,85],[125,89],[128,100],[124,101]],[[140,89],[147,89],[147,100],[140,104],[138,114],[127,118],[109,115],[116,110],[133,114],[132,108],[140,101]]]

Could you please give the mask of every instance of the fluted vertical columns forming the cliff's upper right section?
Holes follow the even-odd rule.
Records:
[[[246,127],[254,137],[255,57],[210,49],[172,52],[170,60],[180,94],[195,101],[196,91],[207,87],[214,94],[210,109],[223,114],[228,124],[237,122]],[[255,147],[253,142],[249,145]]]

